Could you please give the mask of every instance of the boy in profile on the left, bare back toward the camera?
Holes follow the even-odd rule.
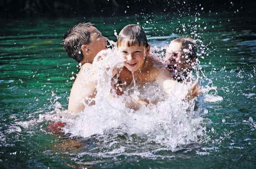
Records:
[[[106,49],[107,40],[92,23],[79,23],[65,33],[64,49],[81,67],[71,89],[69,111],[80,112],[85,104],[94,104],[91,99],[97,93],[98,77],[97,68],[92,69],[92,62],[99,51]]]

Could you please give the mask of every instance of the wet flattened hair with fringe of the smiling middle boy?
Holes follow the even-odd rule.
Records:
[[[118,35],[118,47],[121,45],[130,46],[149,46],[148,40],[146,39],[146,33],[143,28],[138,25],[127,25],[125,26]]]

